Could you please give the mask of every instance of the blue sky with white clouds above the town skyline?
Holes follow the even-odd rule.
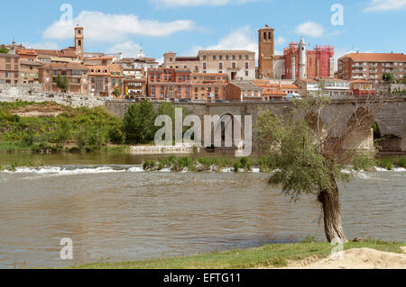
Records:
[[[71,5],[60,11],[62,4]],[[344,24],[333,25],[333,4],[344,8]],[[65,14],[64,14],[65,13]],[[61,19],[61,17],[63,19]],[[85,49],[135,56],[142,43],[148,57],[169,50],[257,49],[256,31],[275,29],[275,49],[304,36],[307,43],[348,51],[404,52],[406,0],[63,0],[9,1],[0,10],[0,43],[62,49],[73,45],[72,27],[85,26]],[[62,21],[63,20],[63,21]]]

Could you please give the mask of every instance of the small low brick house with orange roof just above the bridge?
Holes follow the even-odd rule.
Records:
[[[263,101],[263,89],[252,81],[234,81],[226,86],[226,100],[230,102]]]

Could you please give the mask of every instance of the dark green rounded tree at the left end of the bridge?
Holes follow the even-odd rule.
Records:
[[[123,121],[126,142],[129,144],[151,142],[157,130],[154,125],[156,116],[152,103],[148,101],[143,100],[141,103],[131,105]]]

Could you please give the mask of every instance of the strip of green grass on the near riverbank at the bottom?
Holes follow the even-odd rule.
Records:
[[[367,240],[350,242],[345,250],[353,248],[373,248],[379,251],[401,254],[405,244]],[[290,261],[309,257],[326,258],[333,246],[328,243],[277,244],[249,249],[235,249],[198,256],[156,259],[134,262],[95,263],[72,266],[74,269],[248,269],[284,267]]]

